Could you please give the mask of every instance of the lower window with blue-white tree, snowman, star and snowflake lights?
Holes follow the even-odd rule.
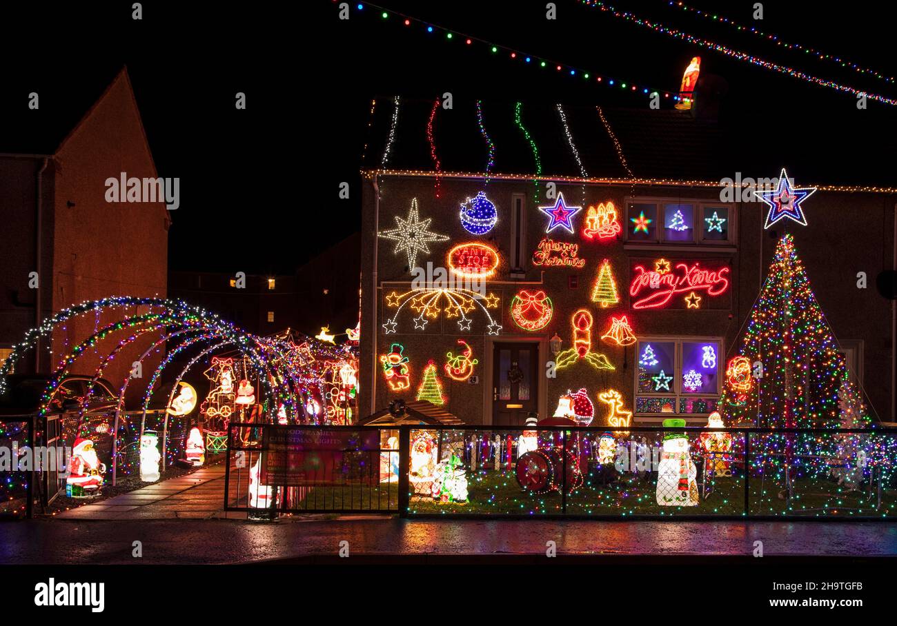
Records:
[[[717,410],[719,339],[645,337],[636,343],[635,413],[701,415]]]

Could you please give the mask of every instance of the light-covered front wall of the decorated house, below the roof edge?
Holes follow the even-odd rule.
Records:
[[[721,391],[726,362],[736,355],[736,342],[766,277],[776,239],[787,229],[795,236],[798,254],[834,334],[852,352],[867,401],[881,419],[891,415],[893,309],[891,301],[877,293],[875,275],[893,262],[893,197],[819,192],[807,203],[808,225],[778,222],[764,230],[766,212],[760,204],[721,203],[718,188],[558,184],[556,191],[564,204],[582,208],[571,218],[573,232],[563,227],[546,232],[550,218],[538,207],[553,206],[555,199],[545,197],[544,186],[538,187],[536,195],[532,181],[492,179],[486,185],[479,178],[442,178],[439,197],[435,178],[390,176],[368,182],[362,217],[360,406],[370,412],[395,398],[414,400],[432,361],[442,387],[443,408],[449,413],[471,424],[522,423],[523,411],[518,410],[511,422],[499,415],[506,408],[501,398],[508,391],[509,368],[508,362],[496,363],[502,347],[522,343],[536,349],[535,373],[525,381],[530,402],[519,403],[515,387],[505,404],[526,404],[542,419],[554,413],[559,398],[568,391],[585,389],[594,406],[595,426],[610,425],[610,417],[623,417],[627,411],[634,413],[633,423],[658,423],[669,413],[690,423],[706,423]],[[460,207],[480,191],[495,204],[498,221],[492,230],[476,236],[462,225]],[[449,256],[453,249],[457,253],[458,246],[477,244],[497,254],[499,264],[483,286],[483,306],[476,303],[458,315],[457,302],[446,295],[422,300],[422,292],[412,290],[414,276],[405,250],[396,250],[402,242],[377,237],[378,231],[396,229],[396,218],[409,218],[415,198],[419,219],[430,220],[426,230],[444,236],[431,238],[439,240],[428,242],[427,249],[417,253],[415,265],[425,269],[432,264],[430,277],[440,278],[439,268],[452,275],[451,265],[457,265],[461,257]],[[583,231],[588,207],[607,207],[608,203],[614,205],[621,231],[606,239],[589,238]],[[652,205],[658,213],[648,219],[663,227],[658,241],[637,239],[631,220],[638,219],[641,207]],[[705,207],[710,213],[704,213]],[[705,215],[712,217],[714,207],[727,210],[718,213],[718,217],[726,215],[724,239],[705,239],[701,234],[701,223]],[[684,222],[673,219],[677,210],[683,212]],[[867,227],[843,219],[845,211],[864,212]],[[684,234],[664,230],[671,221],[680,224]],[[874,228],[869,227],[872,223]],[[690,229],[697,229],[697,235],[690,235]],[[718,238],[718,234],[710,237]],[[548,256],[559,258],[566,253],[562,263],[567,265],[544,262],[549,249],[545,239],[555,243]],[[491,257],[492,253],[483,254]],[[619,301],[602,306],[593,295],[605,260]],[[858,288],[858,272],[867,273],[866,289]],[[652,274],[658,275],[652,278]],[[520,319],[520,303],[527,301],[529,317],[522,317],[527,320],[534,311],[545,311],[546,298],[551,301],[550,321],[538,330],[519,326],[514,311]],[[580,310],[588,312],[587,320],[591,317],[588,332],[574,329]],[[625,339],[623,317],[636,343],[614,342],[614,337],[623,343],[632,340],[631,336]],[[558,353],[551,347],[553,337],[561,340]],[[409,384],[398,391],[390,388],[380,361],[393,343],[402,346],[408,360]],[[640,361],[655,360],[650,353],[644,358],[648,345],[659,362],[641,366],[640,372]],[[469,378],[455,380],[446,369],[448,353],[457,358],[466,346],[472,351],[470,360],[477,362]],[[701,361],[705,346],[711,348],[712,361]],[[580,357],[580,352],[585,356]],[[672,371],[665,368],[661,376],[658,368],[664,362]],[[692,367],[701,374],[701,387],[690,391],[686,382],[693,385],[694,378],[684,377]],[[672,377],[670,393],[664,388],[666,377]],[[618,401],[610,395],[614,391]]]

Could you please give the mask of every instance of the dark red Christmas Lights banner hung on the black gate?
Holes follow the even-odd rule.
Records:
[[[287,486],[340,483],[344,454],[379,448],[379,430],[266,428],[260,480]]]

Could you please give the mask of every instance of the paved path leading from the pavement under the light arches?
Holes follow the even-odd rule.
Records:
[[[225,513],[224,465],[211,465],[193,474],[150,483],[135,491],[85,504],[59,513],[57,519],[245,519],[245,513]]]

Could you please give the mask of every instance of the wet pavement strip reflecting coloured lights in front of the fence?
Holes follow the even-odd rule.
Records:
[[[244,563],[405,555],[418,560],[480,555],[653,557],[893,556],[897,523],[675,522],[588,520],[407,520],[396,517],[289,518],[275,524],[232,519],[36,519],[0,524],[0,563]],[[140,541],[143,557],[132,556]]]

